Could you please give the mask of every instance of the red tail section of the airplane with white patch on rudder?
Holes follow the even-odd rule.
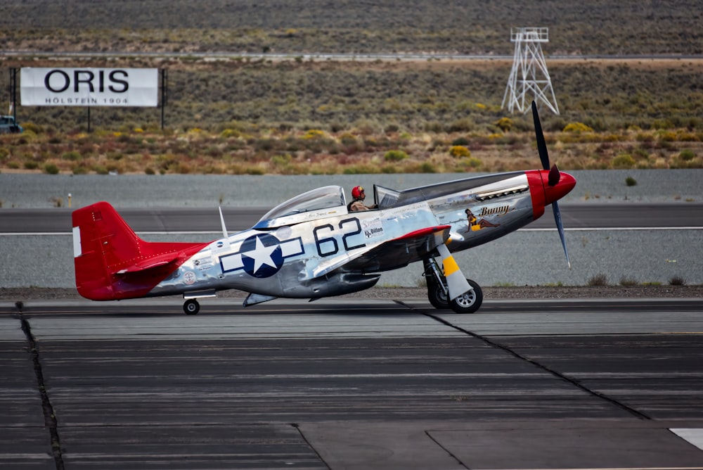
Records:
[[[73,212],[76,287],[92,300],[146,296],[205,246],[143,241],[105,202]]]

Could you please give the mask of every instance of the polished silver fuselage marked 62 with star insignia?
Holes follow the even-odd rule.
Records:
[[[406,191],[375,186],[378,209],[349,212],[344,191],[326,186],[274,208],[252,229],[212,241],[148,296],[234,288],[319,298],[359,291],[373,286],[378,273],[436,254],[430,242],[389,241],[440,226],[445,229],[439,243],[452,252],[479,246],[542,214],[543,207],[533,207],[531,191],[527,172]]]

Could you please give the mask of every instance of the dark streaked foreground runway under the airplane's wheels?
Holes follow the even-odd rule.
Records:
[[[0,303],[0,467],[703,469],[701,299],[181,302]]]

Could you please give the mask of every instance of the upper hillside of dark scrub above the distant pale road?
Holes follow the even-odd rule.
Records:
[[[701,24],[686,0],[6,0],[0,49],[509,55],[540,26],[555,54],[691,55]]]

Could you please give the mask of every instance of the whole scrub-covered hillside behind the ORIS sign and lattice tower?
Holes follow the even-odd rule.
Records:
[[[8,2],[3,68],[154,67],[157,108],[18,107],[0,170],[455,172],[534,162],[531,116],[501,109],[510,59],[315,61],[249,53],[444,52],[510,56],[510,27],[550,28],[560,115],[542,113],[565,169],[703,165],[703,32],[690,2]],[[576,2],[578,3],[578,2]],[[37,12],[41,12],[38,14]],[[6,14],[5,14],[6,13]],[[82,51],[88,57],[35,56]],[[105,51],[218,51],[89,57]],[[667,54],[679,58],[627,58]],[[5,82],[7,83],[7,82]],[[9,93],[4,94],[9,96]],[[6,101],[5,101],[6,103]],[[6,104],[1,104],[2,108]],[[569,130],[570,129],[570,130]],[[389,152],[393,152],[390,153]]]

